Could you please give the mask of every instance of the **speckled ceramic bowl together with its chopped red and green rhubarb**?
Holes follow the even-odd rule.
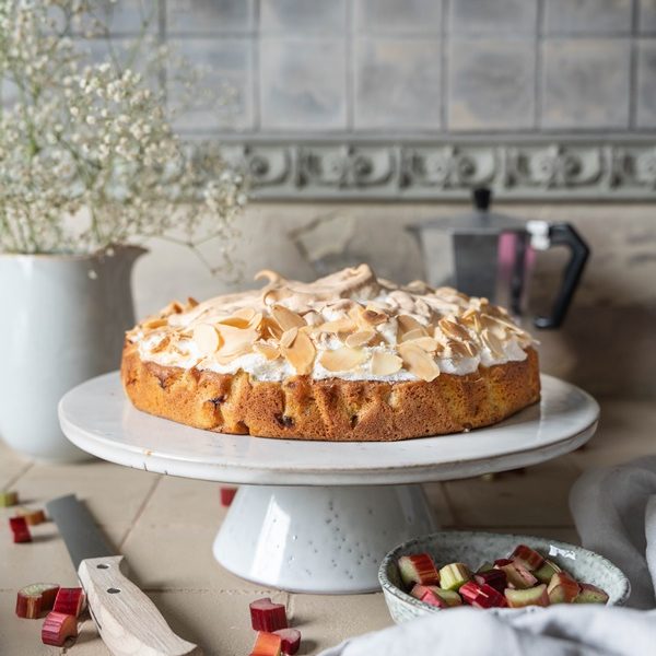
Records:
[[[409,540],[378,579],[395,622],[472,606],[538,610],[553,604],[623,605],[629,579],[609,560],[531,536],[445,530]]]

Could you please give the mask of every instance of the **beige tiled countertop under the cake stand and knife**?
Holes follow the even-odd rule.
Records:
[[[656,405],[602,403],[599,431],[571,454],[495,477],[426,485],[444,527],[525,532],[577,542],[567,492],[584,468],[656,453]],[[343,639],[382,629],[390,619],[380,594],[314,596],[267,590],[246,583],[214,560],[211,544],[225,514],[219,485],[136,471],[99,460],[75,466],[31,464],[0,443],[0,489],[17,490],[22,505],[43,507],[77,493],[117,549],[130,575],[160,608],[174,631],[206,655],[247,656],[255,634],[248,604],[261,596],[284,601],[304,639],[301,654],[316,654]],[[14,616],[16,590],[35,582],[75,585],[56,526],[33,527],[34,541],[13,544],[0,508],[0,655],[108,654],[90,620],[69,649],[40,643],[40,621]]]

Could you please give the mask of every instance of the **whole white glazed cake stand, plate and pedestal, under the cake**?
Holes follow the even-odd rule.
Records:
[[[542,400],[467,434],[395,443],[330,443],[222,435],[136,410],[117,373],[75,387],[59,405],[80,448],[119,465],[243,487],[214,540],[231,572],[291,591],[378,589],[387,551],[437,525],[419,483],[535,465],[581,446],[599,407],[542,376]]]

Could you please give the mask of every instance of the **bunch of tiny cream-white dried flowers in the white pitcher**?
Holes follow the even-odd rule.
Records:
[[[71,25],[107,33],[84,0],[0,3],[0,79],[13,101],[2,109],[0,97],[0,251],[216,238],[216,268],[230,266],[243,176],[215,148],[200,165],[173,131],[162,91],[115,57],[89,65]]]

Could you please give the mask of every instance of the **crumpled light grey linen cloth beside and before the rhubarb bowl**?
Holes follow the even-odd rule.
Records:
[[[583,546],[631,581],[628,608],[449,609],[348,640],[321,656],[656,655],[656,457],[586,471],[570,504]]]

